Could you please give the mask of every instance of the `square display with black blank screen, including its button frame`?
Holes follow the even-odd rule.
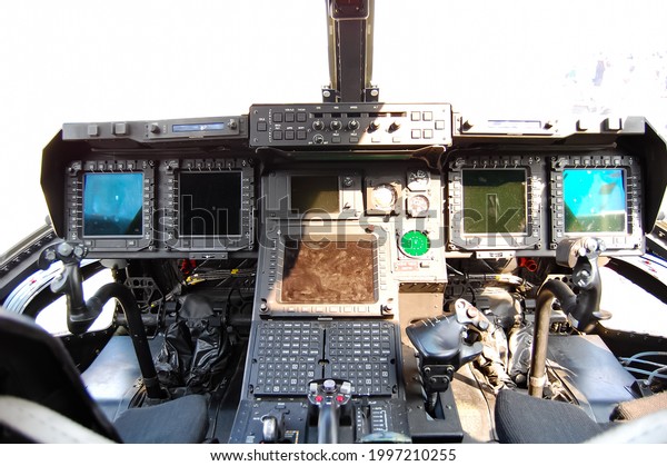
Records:
[[[253,245],[253,170],[246,159],[171,159],[161,166],[166,245],[229,251]]]

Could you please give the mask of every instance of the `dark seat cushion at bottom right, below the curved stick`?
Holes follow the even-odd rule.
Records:
[[[501,390],[496,398],[496,432],[504,444],[578,444],[604,428],[578,406]]]

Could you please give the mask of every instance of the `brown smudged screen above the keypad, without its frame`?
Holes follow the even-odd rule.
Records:
[[[280,300],[286,304],[376,301],[375,240],[287,240]]]

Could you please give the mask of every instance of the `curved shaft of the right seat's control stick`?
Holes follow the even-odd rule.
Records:
[[[563,309],[568,309],[577,305],[577,296],[560,280],[545,281],[537,294],[532,359],[528,383],[528,394],[537,398],[542,397],[547,377],[547,345],[549,343],[549,324],[554,300],[558,300]]]

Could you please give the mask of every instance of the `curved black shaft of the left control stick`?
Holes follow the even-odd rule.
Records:
[[[132,345],[135,346],[135,353],[137,354],[139,369],[141,370],[148,397],[163,398],[165,394],[160,388],[156,366],[152,361],[150,347],[148,346],[146,328],[141,320],[141,311],[139,310],[139,306],[137,306],[137,300],[132,291],[120,284],[107,284],[86,303],[86,307],[90,314],[99,316],[104,304],[111,298],[118,299],[128,321]]]

